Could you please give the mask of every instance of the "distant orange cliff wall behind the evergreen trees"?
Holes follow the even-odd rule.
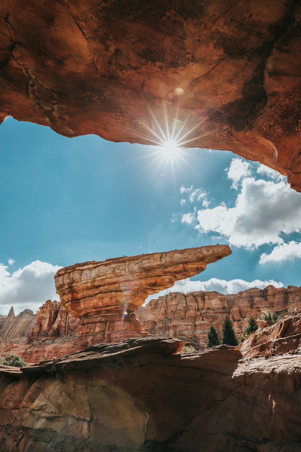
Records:
[[[248,318],[259,317],[264,309],[293,311],[296,308],[301,308],[301,287],[268,286],[228,295],[171,292],[141,306],[135,315],[150,334],[179,338],[196,348],[204,348],[210,323],[221,332],[227,314],[239,337],[248,326]]]

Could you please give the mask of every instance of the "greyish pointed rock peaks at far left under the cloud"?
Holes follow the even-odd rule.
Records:
[[[27,338],[35,322],[36,314],[33,314],[30,309],[25,309],[15,316],[12,306],[0,327],[0,346],[4,342]]]

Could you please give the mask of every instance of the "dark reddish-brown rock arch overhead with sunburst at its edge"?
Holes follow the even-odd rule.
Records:
[[[301,191],[300,13],[298,0],[32,0],[25,13],[3,0],[0,121],[153,144],[145,125],[166,114],[193,129],[183,147],[259,161]]]

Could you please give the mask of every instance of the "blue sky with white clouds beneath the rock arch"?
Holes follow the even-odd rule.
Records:
[[[13,118],[0,125],[0,314],[53,299],[58,266],[216,243],[232,255],[193,281],[301,285],[301,194],[286,179],[231,152],[190,149],[187,163],[153,152]]]

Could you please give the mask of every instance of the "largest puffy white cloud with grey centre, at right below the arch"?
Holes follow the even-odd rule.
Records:
[[[281,234],[301,232],[301,193],[281,181],[263,179],[242,181],[235,207],[221,203],[218,207],[198,211],[199,232],[224,235],[229,244],[251,249],[267,243],[281,244]]]

